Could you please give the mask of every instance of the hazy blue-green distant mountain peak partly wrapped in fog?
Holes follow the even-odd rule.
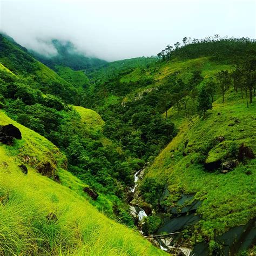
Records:
[[[56,70],[56,66],[68,66],[73,70],[94,70],[99,66],[106,64],[106,60],[87,57],[80,53],[71,42],[60,42],[53,39],[51,44],[56,48],[56,56],[44,56],[40,53],[30,50],[30,52],[42,63]]]

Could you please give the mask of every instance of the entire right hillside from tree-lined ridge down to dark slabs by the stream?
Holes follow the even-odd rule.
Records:
[[[169,252],[236,255],[255,236],[255,42],[197,42],[170,54],[99,80],[82,104],[125,152],[152,163],[144,178],[136,173],[143,180],[131,200],[149,215],[144,234]]]

